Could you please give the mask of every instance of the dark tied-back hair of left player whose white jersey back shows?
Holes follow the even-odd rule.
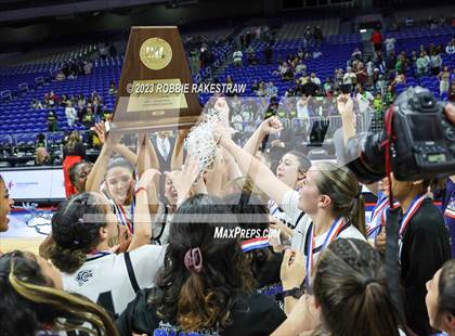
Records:
[[[100,243],[100,228],[106,227],[106,205],[96,193],[81,193],[62,202],[52,217],[50,249],[52,262],[63,272],[73,273],[87,260],[87,254]]]

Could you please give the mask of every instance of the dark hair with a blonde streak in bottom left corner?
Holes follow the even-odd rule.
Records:
[[[107,313],[92,301],[54,288],[36,257],[15,250],[0,258],[0,329],[3,336],[35,336],[53,331],[82,329],[94,335],[118,335]]]

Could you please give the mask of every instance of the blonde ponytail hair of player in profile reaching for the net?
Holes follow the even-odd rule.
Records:
[[[316,180],[317,189],[321,194],[330,197],[334,214],[346,217],[363,235],[366,235],[365,202],[355,176],[348,168],[329,161],[317,163],[314,166],[320,172],[320,178]]]

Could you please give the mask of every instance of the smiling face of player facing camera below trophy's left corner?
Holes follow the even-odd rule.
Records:
[[[115,167],[106,173],[106,185],[114,201],[125,204],[132,193],[133,177],[131,171],[123,167]]]

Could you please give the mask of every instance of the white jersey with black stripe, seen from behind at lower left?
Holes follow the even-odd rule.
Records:
[[[165,250],[162,246],[145,245],[119,255],[90,256],[76,272],[62,272],[63,289],[81,294],[118,315],[139,289],[155,284]]]

